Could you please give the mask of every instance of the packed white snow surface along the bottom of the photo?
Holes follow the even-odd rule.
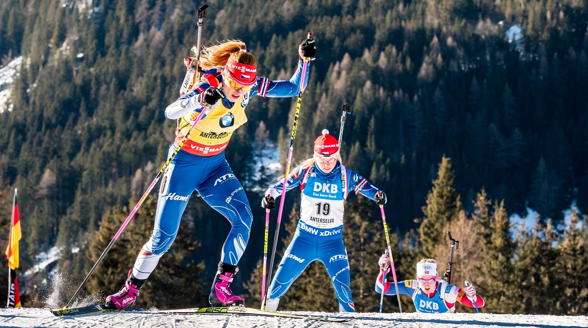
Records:
[[[83,316],[55,317],[48,309],[1,309],[0,327],[271,327],[271,328],[320,328],[320,327],[588,327],[586,316],[532,316],[523,314],[425,314],[425,313],[325,313],[288,312],[303,316],[343,318],[356,317],[348,324],[325,323],[313,320],[278,317],[243,316],[236,314],[168,314],[156,312],[125,312],[87,314]]]

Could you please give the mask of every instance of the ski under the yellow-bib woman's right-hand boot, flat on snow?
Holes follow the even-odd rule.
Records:
[[[242,314],[246,316],[268,316],[268,317],[285,317],[290,319],[308,319],[322,322],[336,322],[346,323],[355,319],[355,317],[347,317],[345,319],[325,319],[313,316],[299,316],[298,314],[288,314],[281,312],[272,312],[259,309],[252,309],[244,306],[228,306],[228,307],[196,307],[194,309],[180,309],[180,310],[159,310],[158,313],[191,313],[191,314]]]

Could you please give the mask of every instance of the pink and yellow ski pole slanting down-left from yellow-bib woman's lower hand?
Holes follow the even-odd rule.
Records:
[[[86,285],[86,282],[88,282],[89,277],[96,270],[96,267],[98,267],[100,262],[102,262],[102,260],[106,256],[106,253],[108,253],[108,251],[112,248],[112,245],[114,245],[114,243],[116,242],[116,239],[118,239],[118,237],[121,236],[122,231],[125,230],[126,225],[128,225],[129,222],[131,222],[131,219],[133,218],[133,216],[135,215],[135,213],[137,212],[139,207],[141,207],[143,201],[145,201],[145,199],[149,195],[149,192],[151,192],[151,189],[153,189],[155,184],[158,182],[159,178],[161,178],[161,176],[163,175],[163,172],[165,172],[165,169],[168,168],[169,163],[171,163],[172,159],[175,158],[176,154],[182,148],[182,145],[184,144],[184,142],[186,142],[186,140],[188,140],[188,136],[190,136],[190,133],[192,132],[194,127],[198,124],[198,122],[200,122],[212,110],[213,107],[214,107],[214,105],[211,105],[206,110],[202,109],[202,112],[200,112],[200,115],[198,115],[198,117],[196,118],[196,120],[192,124],[192,127],[190,128],[188,133],[186,133],[186,135],[184,136],[182,141],[179,143],[179,145],[173,151],[172,155],[169,156],[168,161],[165,162],[165,164],[163,165],[163,168],[161,168],[161,170],[159,170],[159,173],[157,173],[157,176],[155,176],[155,179],[153,179],[153,181],[151,182],[151,185],[149,185],[149,188],[147,188],[145,193],[143,193],[143,196],[141,197],[141,199],[139,199],[139,202],[137,203],[137,205],[135,205],[135,208],[133,208],[133,210],[131,211],[129,216],[126,217],[126,220],[125,220],[125,222],[122,223],[121,228],[118,229],[118,232],[116,232],[116,235],[114,235],[111,242],[108,244],[108,246],[106,246],[106,249],[104,250],[104,252],[102,252],[102,255],[98,258],[98,260],[96,261],[96,263],[94,264],[94,266],[92,267],[90,272],[88,273],[88,276],[86,276],[86,278],[83,279],[82,284],[79,285],[78,290],[76,290],[76,292],[74,293],[74,296],[72,296],[71,300],[69,300],[69,302],[66,304],[66,306],[62,307],[60,310],[65,310],[68,308],[69,305],[71,305],[71,303],[74,301],[75,297],[78,295],[79,291],[82,289],[82,287],[84,285]]]

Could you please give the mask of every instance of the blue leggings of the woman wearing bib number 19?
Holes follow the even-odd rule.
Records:
[[[339,312],[355,312],[349,288],[349,262],[343,236],[316,237],[296,228],[294,237],[273,277],[266,309],[276,310],[279,300],[306,267],[319,260],[329,273],[339,301]]]

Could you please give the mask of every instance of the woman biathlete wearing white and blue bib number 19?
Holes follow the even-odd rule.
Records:
[[[266,299],[266,310],[275,311],[278,303],[306,266],[315,260],[325,265],[339,312],[355,312],[349,288],[349,262],[343,245],[343,203],[349,192],[361,193],[377,204],[386,203],[386,195],[339,162],[337,139],[323,130],[315,140],[314,158],[310,158],[288,176],[286,191],[300,186],[302,203],[296,232],[273,277]],[[266,192],[262,206],[275,207],[282,194],[283,182]]]

